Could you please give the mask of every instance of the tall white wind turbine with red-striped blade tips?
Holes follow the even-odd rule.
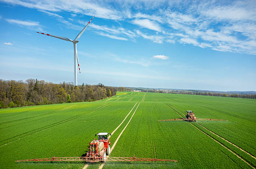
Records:
[[[92,19],[93,18],[94,18],[94,16],[92,17]],[[52,36],[54,38],[59,38],[59,39],[67,40],[69,42],[74,43],[74,84],[75,84],[75,86],[77,86],[77,63],[78,63],[79,73],[81,73],[80,72],[80,67],[79,67],[78,55],[77,55],[77,43],[79,42],[79,40],[77,40],[77,39],[80,38],[80,36],[84,33],[84,30],[87,28],[87,26],[92,21],[92,19],[87,23],[87,25],[85,25],[85,27],[81,30],[81,32],[77,35],[77,37],[74,40],[71,40],[71,39],[66,38],[66,37],[61,37],[61,36],[55,36],[55,35],[50,35],[50,34],[46,34],[46,33],[41,33],[43,35]],[[40,33],[40,32],[36,32],[36,33]]]

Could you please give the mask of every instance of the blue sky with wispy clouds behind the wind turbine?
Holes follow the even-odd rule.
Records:
[[[0,78],[256,91],[256,1],[0,0]]]

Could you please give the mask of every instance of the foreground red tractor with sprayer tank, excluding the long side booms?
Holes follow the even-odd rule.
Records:
[[[89,143],[89,151],[86,156],[92,161],[106,161],[106,154],[110,155],[110,133],[98,133],[95,136],[98,136],[97,140],[92,140]]]

